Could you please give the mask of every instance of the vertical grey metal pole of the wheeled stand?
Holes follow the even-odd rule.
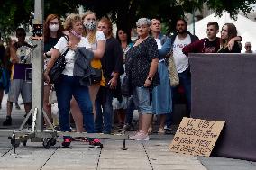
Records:
[[[33,24],[42,24],[42,5],[43,0],[34,1],[34,21]],[[36,114],[36,127],[37,131],[42,130],[42,92],[43,92],[43,81],[42,81],[42,40],[34,40],[34,44],[37,45],[33,52],[32,58],[32,118],[34,116],[34,111],[37,108]],[[33,119],[32,119],[33,120]]]

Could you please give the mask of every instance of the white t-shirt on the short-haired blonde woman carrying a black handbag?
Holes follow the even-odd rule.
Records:
[[[57,44],[54,46],[54,49],[58,49],[60,54],[63,54],[66,49],[68,49],[68,41],[64,38],[61,37]],[[82,37],[81,40],[78,43],[78,47],[86,47],[87,41],[86,38]],[[69,49],[67,52],[65,59],[66,59],[66,67],[63,70],[62,74],[67,75],[67,76],[74,76],[73,75],[73,70],[74,70],[74,62],[75,62],[75,51],[72,49]]]

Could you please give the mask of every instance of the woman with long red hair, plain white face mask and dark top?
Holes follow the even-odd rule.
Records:
[[[43,41],[44,41],[44,69],[47,67],[47,63],[50,60],[52,48],[58,42],[62,34],[63,28],[60,24],[59,16],[56,14],[50,14],[47,16],[43,25]],[[43,94],[43,109],[47,113],[51,120],[51,105],[49,104],[49,94],[51,85],[44,83]],[[45,121],[48,125],[48,122]],[[58,121],[53,123],[58,126]],[[49,127],[49,126],[48,126]]]

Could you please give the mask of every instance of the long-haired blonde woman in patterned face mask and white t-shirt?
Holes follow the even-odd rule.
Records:
[[[92,50],[94,53],[94,59],[91,62],[91,66],[101,69],[100,58],[103,57],[105,52],[105,35],[102,31],[96,31],[96,13],[87,11],[83,14],[82,20],[85,27],[84,37],[86,38],[86,48]],[[103,76],[100,83],[89,86],[94,115],[96,115],[96,94],[98,93],[100,86],[105,86],[105,79]],[[77,131],[83,131],[82,113],[78,107],[78,103],[74,99],[71,101],[71,112],[74,121],[76,122]]]

